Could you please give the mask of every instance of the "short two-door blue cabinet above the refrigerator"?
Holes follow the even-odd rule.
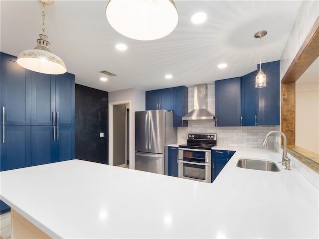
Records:
[[[146,110],[173,110],[173,88],[147,91]]]

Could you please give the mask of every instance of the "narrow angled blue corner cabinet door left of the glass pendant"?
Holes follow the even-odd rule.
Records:
[[[241,126],[257,124],[256,75],[257,71],[254,71],[241,78]]]

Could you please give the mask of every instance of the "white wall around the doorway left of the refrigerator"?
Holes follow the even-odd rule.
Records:
[[[131,88],[109,92],[109,104],[131,101],[130,108],[130,168],[135,169],[135,112],[145,110],[145,91]],[[110,119],[109,114],[109,119]],[[111,137],[110,137],[111,139]],[[109,159],[110,160],[110,159]]]

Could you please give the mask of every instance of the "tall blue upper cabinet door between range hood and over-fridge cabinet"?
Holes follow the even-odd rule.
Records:
[[[174,87],[173,91],[173,126],[188,126],[188,121],[182,122],[181,118],[187,114],[188,111],[188,89],[185,86]]]

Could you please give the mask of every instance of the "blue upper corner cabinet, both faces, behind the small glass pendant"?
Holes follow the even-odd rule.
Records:
[[[255,88],[257,71],[241,78],[242,126],[280,124],[279,61],[263,63],[262,70],[267,77],[264,88]]]

